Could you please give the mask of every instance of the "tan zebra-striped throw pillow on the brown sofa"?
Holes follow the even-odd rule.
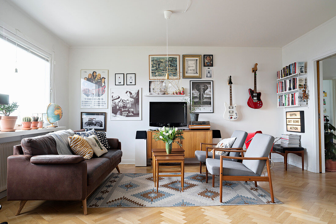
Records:
[[[69,136],[69,146],[75,155],[81,155],[84,159],[91,159],[93,150],[89,143],[79,135]]]

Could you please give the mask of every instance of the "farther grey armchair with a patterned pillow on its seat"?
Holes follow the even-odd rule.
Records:
[[[235,130],[231,136],[231,138],[235,138],[235,142],[232,144],[232,148],[237,149],[237,148],[242,148],[244,146],[245,140],[247,138],[247,132],[241,131],[241,130]],[[202,146],[203,145],[217,145],[215,143],[201,143],[201,150],[196,150],[195,151],[195,157],[198,161],[200,161],[200,173],[202,173],[202,163],[205,163],[206,158],[215,158],[219,159],[219,155],[215,154],[213,157],[213,153],[211,152],[206,152],[202,151]],[[239,156],[240,152],[230,152],[229,156]],[[224,160],[231,160],[231,161],[237,161],[237,159],[227,159],[223,158]],[[206,170],[206,174],[208,176],[208,172]],[[206,183],[208,183],[207,177],[206,177]]]

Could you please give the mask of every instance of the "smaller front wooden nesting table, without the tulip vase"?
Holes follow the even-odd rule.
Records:
[[[159,177],[181,177],[181,187],[184,187],[184,156],[156,156],[156,192],[159,192]],[[181,174],[161,174],[159,175],[160,162],[178,162],[181,163]],[[167,173],[176,173],[176,171],[165,171]]]

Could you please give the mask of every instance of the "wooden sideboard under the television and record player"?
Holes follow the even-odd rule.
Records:
[[[156,132],[158,131],[147,131],[147,158],[152,158],[152,149],[166,147],[163,141],[153,139]],[[200,150],[201,142],[212,143],[212,130],[183,130],[183,137],[184,139],[179,142],[184,149],[185,158],[195,158],[195,151]],[[205,147],[203,145],[203,150]],[[174,142],[173,148],[180,148],[180,146]]]

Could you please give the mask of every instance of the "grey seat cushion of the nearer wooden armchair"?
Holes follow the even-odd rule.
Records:
[[[219,159],[206,159],[208,172],[212,175],[219,175],[220,160]],[[223,161],[223,176],[260,176],[244,166],[240,162]]]

